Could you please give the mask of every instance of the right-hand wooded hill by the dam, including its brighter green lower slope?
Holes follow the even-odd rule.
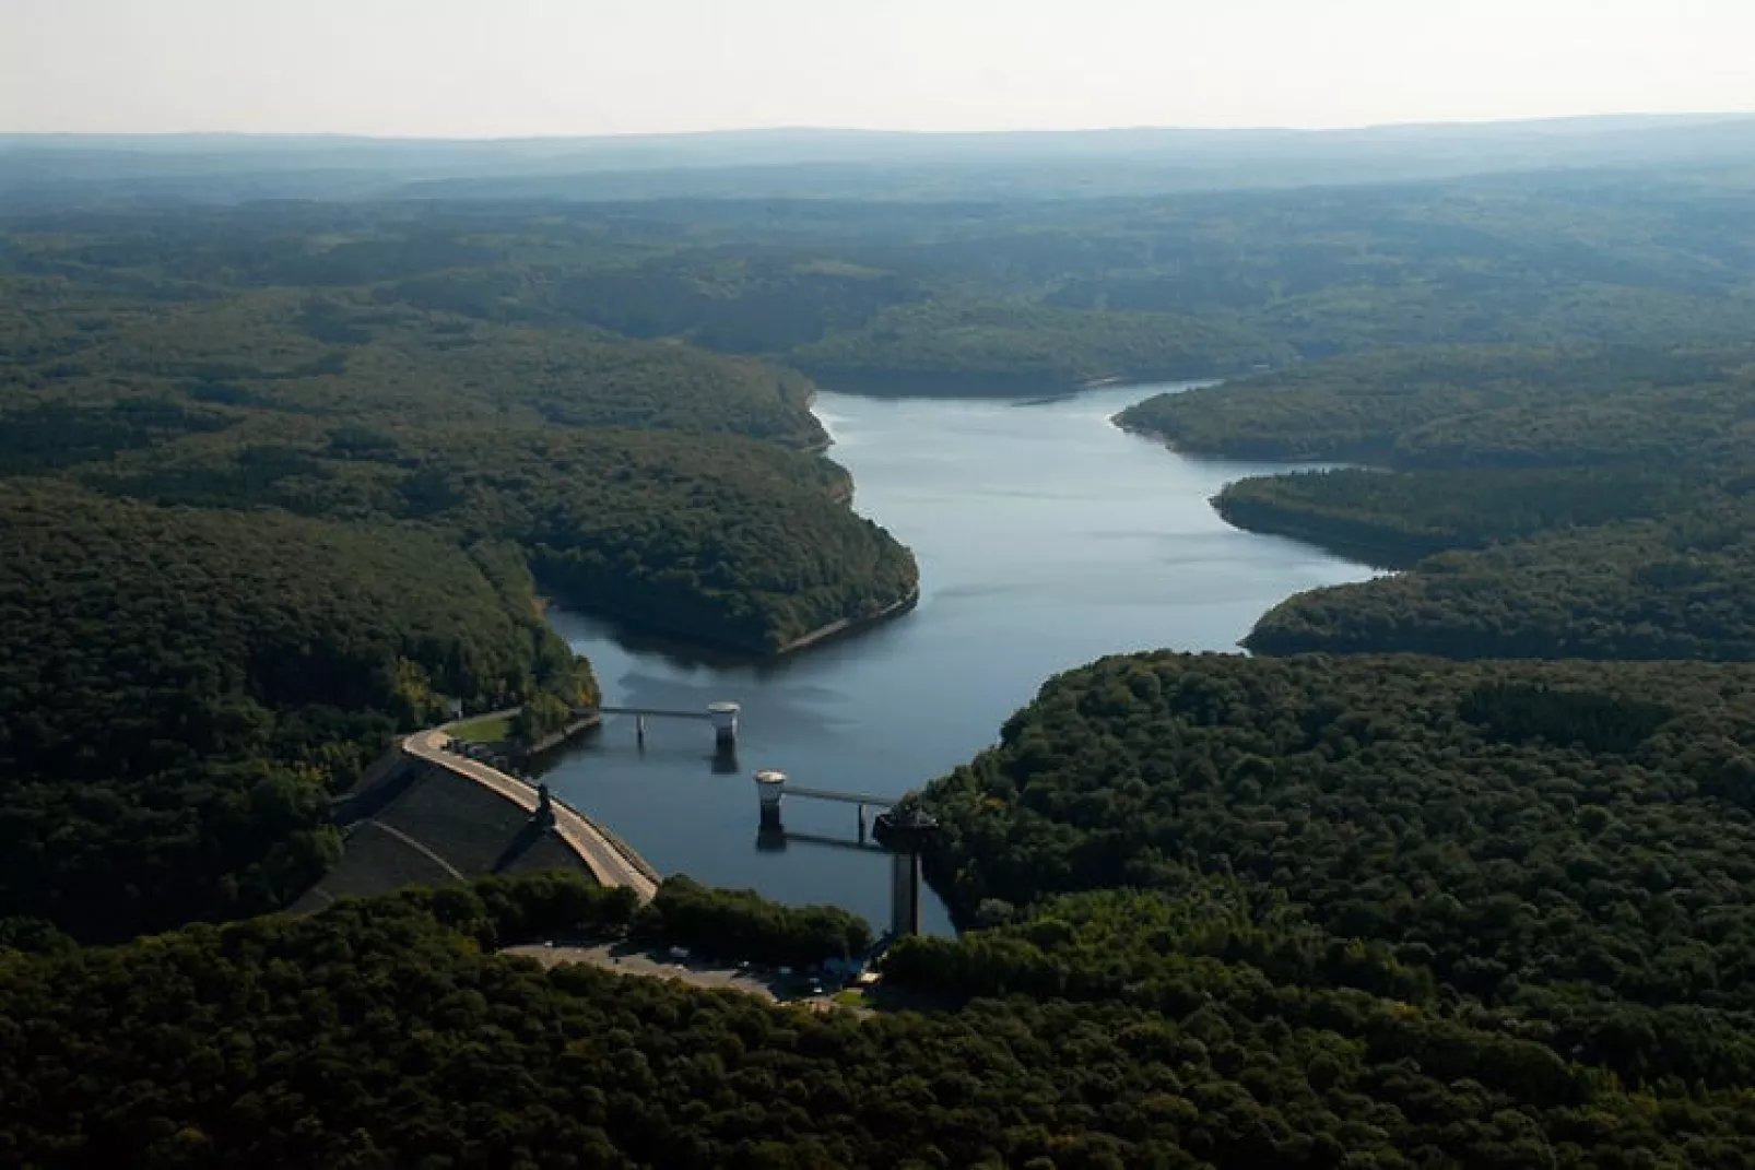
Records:
[[[928,870],[988,930],[890,968],[1185,1024],[1320,1019],[1527,1100],[1609,1084],[1592,1068],[1743,1093],[1751,731],[1746,667],[1104,660],[927,789]],[[1155,893],[1064,898],[1118,886]],[[1221,963],[1258,982],[1202,996]],[[1348,1023],[1318,1007],[1337,989],[1400,1007]]]

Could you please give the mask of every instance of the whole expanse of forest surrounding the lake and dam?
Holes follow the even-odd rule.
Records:
[[[1746,165],[921,174],[7,195],[0,1163],[1755,1163]],[[686,877],[272,912],[395,733],[595,698],[542,598],[769,656],[914,595],[818,382],[1109,379],[1228,379],[1121,424],[1309,465],[1214,505],[1404,572],[1071,670],[927,784],[963,933],[881,954],[911,1010],[500,952],[872,945]]]

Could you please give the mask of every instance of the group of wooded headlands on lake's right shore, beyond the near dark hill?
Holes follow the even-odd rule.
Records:
[[[1214,505],[1395,577],[1272,609],[1264,653],[1755,656],[1755,351],[1406,351],[1160,395],[1186,451],[1369,468],[1244,479]]]

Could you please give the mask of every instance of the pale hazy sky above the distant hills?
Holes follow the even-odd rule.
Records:
[[[1755,111],[1755,0],[0,0],[0,130]]]

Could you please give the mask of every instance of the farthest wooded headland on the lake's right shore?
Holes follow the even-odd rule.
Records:
[[[1751,351],[1722,346],[1386,349],[1158,395],[1121,414],[1241,460],[1397,468],[1685,465],[1746,458]]]

